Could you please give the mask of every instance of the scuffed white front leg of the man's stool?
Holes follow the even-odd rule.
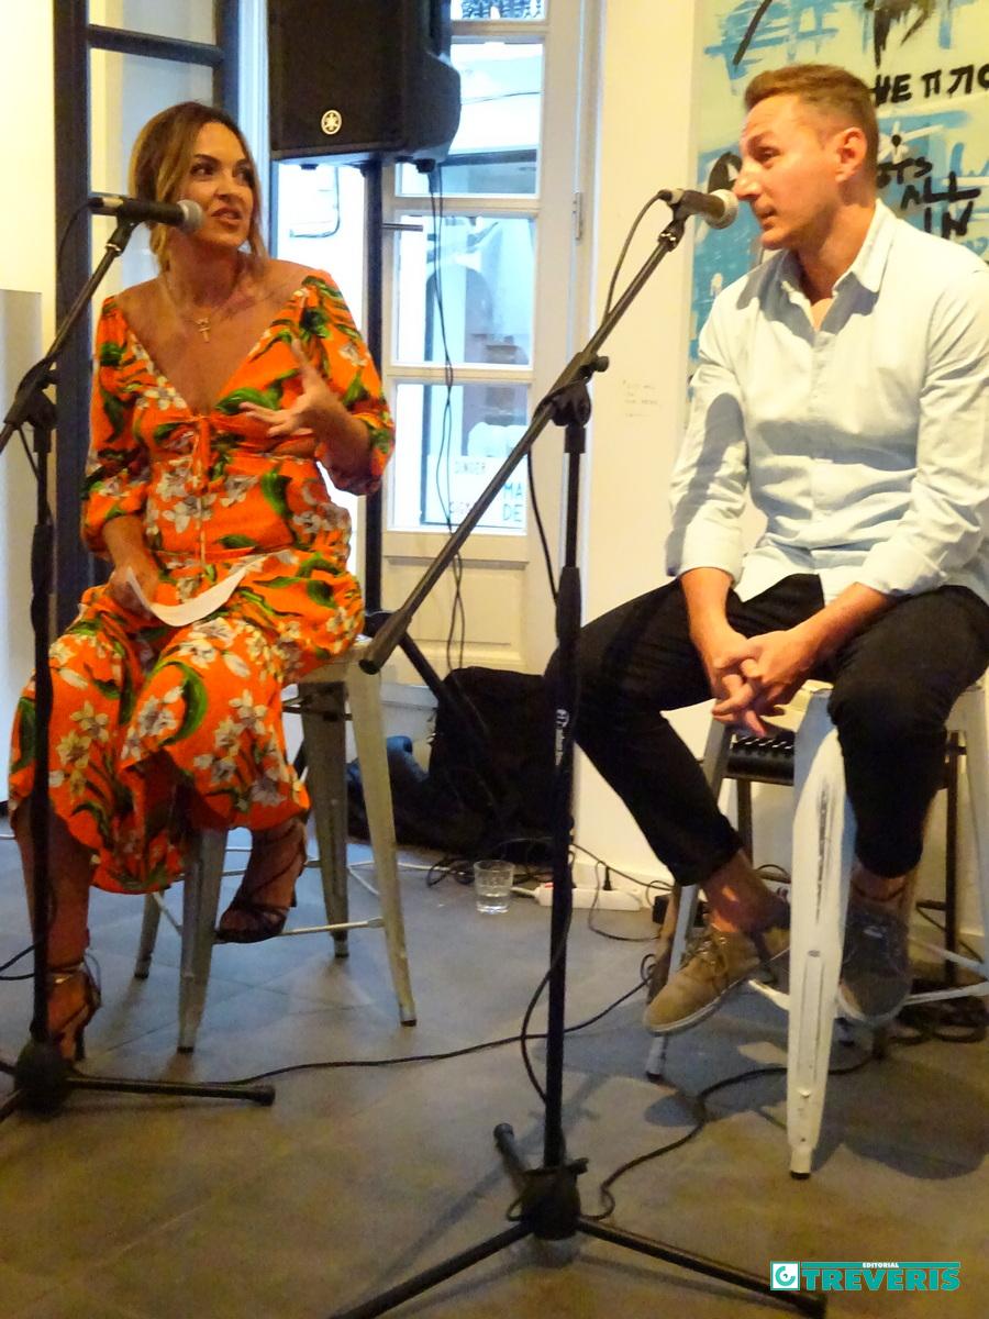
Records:
[[[790,1171],[807,1177],[828,1083],[852,852],[844,761],[825,692],[811,700],[796,737],[794,790],[786,1126]]]

